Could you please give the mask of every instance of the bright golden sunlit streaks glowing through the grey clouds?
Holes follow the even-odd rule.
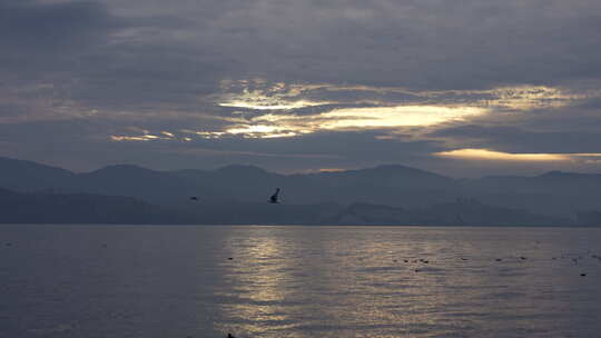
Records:
[[[336,86],[328,83],[295,84],[264,79],[221,83],[221,92],[213,97],[217,107],[239,108],[231,117],[219,116],[226,122],[219,128],[190,130],[186,141],[227,137],[290,138],[319,131],[400,130],[425,128],[449,122],[473,121],[492,116],[495,111],[528,111],[558,108],[577,100],[599,97],[599,92],[569,92],[544,86],[499,87],[486,90],[412,91],[407,88]],[[338,96],[341,92],[347,95]],[[333,95],[331,97],[329,95]],[[382,96],[386,99],[382,100]],[[395,97],[398,96],[398,97]],[[372,97],[370,99],[370,97]],[[321,98],[321,99],[315,99]],[[361,98],[361,99],[358,99]],[[404,98],[403,103],[398,98]],[[341,101],[342,100],[342,101]],[[332,106],[338,107],[332,107]],[[362,107],[370,105],[373,107]],[[318,107],[322,106],[322,107]],[[328,107],[329,106],[329,107]],[[297,110],[318,107],[311,113]],[[157,136],[158,135],[158,136]],[[392,136],[378,136],[393,139]],[[170,131],[142,136],[112,136],[114,141],[177,140]],[[484,152],[487,151],[487,152]],[[561,155],[503,155],[490,150],[467,149],[461,152],[441,152],[455,158],[486,158],[514,161],[558,161]]]

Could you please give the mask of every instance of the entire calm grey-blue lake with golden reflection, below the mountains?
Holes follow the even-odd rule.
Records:
[[[1,226],[0,337],[600,337],[597,255],[585,228]]]

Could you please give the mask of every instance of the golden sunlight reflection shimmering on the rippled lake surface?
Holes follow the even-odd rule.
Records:
[[[233,259],[221,266],[216,327],[274,338],[550,334],[558,305],[572,297],[564,274],[574,275],[573,267],[549,259],[563,245],[533,247],[540,232],[512,231],[236,228],[227,241]]]

